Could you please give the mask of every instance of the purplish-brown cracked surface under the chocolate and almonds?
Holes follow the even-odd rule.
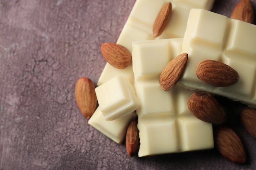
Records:
[[[216,0],[212,11],[230,16],[237,2]],[[116,42],[134,3],[0,0],[0,170],[256,169],[256,139],[226,99],[247,151],[243,165],[215,150],[130,158],[124,144],[88,125],[74,84],[82,76],[97,83],[106,63],[100,45]]]

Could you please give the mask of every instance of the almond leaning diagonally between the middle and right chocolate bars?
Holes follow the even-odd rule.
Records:
[[[171,89],[180,79],[180,76],[186,68],[188,54],[183,53],[171,60],[163,69],[159,84],[163,90]]]

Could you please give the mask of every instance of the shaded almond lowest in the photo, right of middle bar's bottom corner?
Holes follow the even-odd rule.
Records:
[[[235,163],[244,163],[246,161],[243,143],[231,128],[219,127],[215,129],[214,145],[218,152],[230,161]]]

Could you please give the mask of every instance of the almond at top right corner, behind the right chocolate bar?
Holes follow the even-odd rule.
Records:
[[[251,1],[240,0],[231,13],[230,18],[249,22],[252,24],[254,20],[254,10]]]

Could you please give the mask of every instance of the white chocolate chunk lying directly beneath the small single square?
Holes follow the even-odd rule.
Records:
[[[130,113],[113,121],[106,121],[98,107],[89,119],[88,124],[102,132],[104,135],[121,144],[124,141],[130,122],[135,119],[136,113]]]

